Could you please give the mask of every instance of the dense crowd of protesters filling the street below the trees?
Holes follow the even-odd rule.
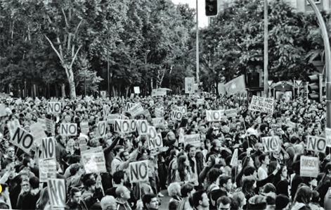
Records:
[[[59,114],[47,113],[49,101],[60,101]],[[132,116],[127,103],[140,103],[143,114]],[[307,137],[325,137],[325,102],[304,97],[274,100],[273,113],[248,109],[249,99],[202,95],[71,99],[0,99],[0,209],[61,209],[51,206],[47,183],[39,180],[40,145],[29,153],[12,144],[8,123],[18,120],[30,132],[38,119],[53,121],[56,139],[56,178],[65,180],[67,210],[155,210],[161,190],[171,197],[169,210],[331,209],[330,147],[325,153],[306,150]],[[162,110],[164,125],[154,125],[162,147],[150,149],[148,135],[120,133],[105,116],[118,114],[148,121]],[[186,107],[180,120],[171,111]],[[207,110],[236,109],[221,121],[207,121]],[[146,111],[147,110],[147,111]],[[160,113],[157,113],[159,116]],[[159,116],[160,117],[160,116]],[[98,138],[98,122],[108,121]],[[107,172],[86,173],[79,146],[80,123],[88,122],[87,149],[103,147]],[[60,134],[61,123],[77,123],[77,136]],[[183,142],[183,135],[200,135],[200,146]],[[279,137],[278,151],[266,152],[263,137]],[[71,144],[70,142],[74,142]],[[236,152],[235,152],[236,151]],[[238,164],[233,164],[233,156]],[[300,174],[300,157],[319,159],[317,178]],[[148,161],[148,181],[130,182],[130,163]],[[164,192],[164,191],[163,191]]]

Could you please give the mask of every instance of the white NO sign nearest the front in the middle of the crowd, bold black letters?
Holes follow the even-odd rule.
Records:
[[[137,161],[129,164],[130,183],[148,181],[148,161]]]

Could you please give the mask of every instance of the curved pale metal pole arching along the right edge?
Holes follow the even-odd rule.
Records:
[[[331,62],[331,51],[329,37],[327,36],[327,29],[318,7],[313,0],[308,0],[309,4],[313,8],[318,18],[320,29],[322,30],[323,42],[325,47],[325,78],[326,78],[326,128],[331,129],[331,73],[330,73],[330,62]]]

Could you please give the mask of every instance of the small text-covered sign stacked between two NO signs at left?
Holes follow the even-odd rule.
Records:
[[[49,178],[56,178],[56,159],[39,159],[39,181],[47,183]]]

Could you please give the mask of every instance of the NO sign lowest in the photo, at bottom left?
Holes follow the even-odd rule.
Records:
[[[47,180],[47,189],[51,206],[53,208],[65,207],[65,180],[49,178]]]

